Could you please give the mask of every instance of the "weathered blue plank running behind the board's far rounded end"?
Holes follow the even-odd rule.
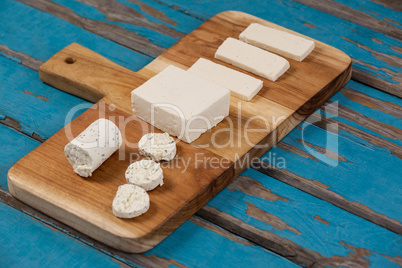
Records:
[[[295,1],[258,1],[253,5],[245,1],[162,2],[203,19],[225,10],[250,13],[339,48],[358,60],[354,68],[400,84],[394,76],[402,71],[397,63],[402,54],[396,49],[402,46],[401,41]],[[377,40],[381,40],[381,43]]]

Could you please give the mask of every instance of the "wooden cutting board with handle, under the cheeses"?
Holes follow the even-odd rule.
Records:
[[[350,79],[351,59],[315,40],[314,51],[303,62],[288,59],[290,69],[276,82],[255,76],[264,87],[252,101],[231,97],[228,118],[192,144],[178,141],[176,158],[162,164],[165,184],[149,192],[147,213],[116,218],[112,200],[126,182],[126,168],[139,158],[137,142],[145,133],[158,131],[132,114],[130,92],[166,66],[187,69],[200,57],[242,71],[215,60],[214,53],[252,22],[292,32],[245,13],[223,12],[139,72],[75,43],[58,52],[40,67],[40,78],[96,104],[10,169],[10,192],[114,248],[144,252],[154,247]],[[84,179],[73,172],[63,148],[100,117],[120,127],[124,145]]]

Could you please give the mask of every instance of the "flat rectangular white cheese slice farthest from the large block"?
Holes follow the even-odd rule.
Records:
[[[297,61],[304,60],[314,49],[312,40],[258,23],[251,23],[239,39]]]

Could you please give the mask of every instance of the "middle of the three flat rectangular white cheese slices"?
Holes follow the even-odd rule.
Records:
[[[290,66],[285,58],[231,37],[219,46],[215,58],[271,81],[276,81]]]

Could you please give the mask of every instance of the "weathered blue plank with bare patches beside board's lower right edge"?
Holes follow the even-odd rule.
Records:
[[[241,175],[255,183],[235,181],[206,206],[318,253],[322,261],[352,260],[358,250],[373,267],[398,266],[392,257],[402,254],[400,235],[255,170]]]

